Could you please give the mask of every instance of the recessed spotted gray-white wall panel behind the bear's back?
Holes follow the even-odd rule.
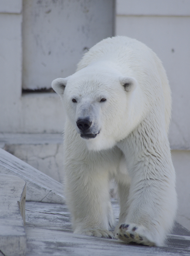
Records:
[[[82,54],[113,34],[113,0],[23,3],[23,88],[50,88],[76,70]]]

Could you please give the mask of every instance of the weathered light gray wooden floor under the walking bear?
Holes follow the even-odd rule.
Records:
[[[117,200],[113,200],[112,205],[118,217]],[[70,213],[65,205],[26,202],[25,216],[26,256],[190,255],[190,232],[177,223],[164,247],[148,247],[73,234]]]

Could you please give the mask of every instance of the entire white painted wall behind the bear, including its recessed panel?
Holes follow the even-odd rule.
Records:
[[[171,5],[170,0],[160,0],[159,2],[152,0],[151,2],[149,0],[117,0],[116,35],[127,35],[146,43],[163,61],[166,72],[168,73],[173,95],[173,117],[169,134],[171,147],[173,149],[190,149],[190,129],[188,129],[188,127],[190,127],[190,118],[188,118],[190,115],[190,101],[188,100],[188,95],[190,95],[190,87],[188,86],[190,81],[190,33],[188,33],[190,27],[190,16],[187,16],[189,15],[190,1],[172,1]],[[103,29],[104,26],[101,25],[102,23],[96,24],[95,20],[95,17],[97,17],[96,19],[99,19],[98,17],[101,16],[102,11],[106,8],[106,3],[108,2],[109,1],[90,1],[88,3],[85,2],[86,4],[83,4],[83,6],[79,4],[82,4],[83,2],[78,2],[79,5],[75,5],[74,9],[71,8],[75,3],[74,0],[70,3],[68,2],[68,11],[66,11],[67,8],[64,10],[64,12],[68,14],[68,25],[64,24],[64,26],[62,25],[62,22],[65,17],[63,17],[63,21],[60,19],[58,19],[58,21],[54,20],[56,17],[56,15],[54,15],[55,12],[59,12],[61,10],[61,8],[60,10],[58,8],[59,6],[62,6],[61,1],[56,1],[56,3],[53,4],[48,0],[47,3],[41,2],[37,4],[36,0],[30,3],[32,6],[29,6],[30,8],[33,8],[34,5],[41,6],[38,8],[39,10],[36,10],[36,7],[34,9],[30,9],[28,7],[30,10],[27,8],[24,10],[24,13],[25,11],[27,12],[27,10],[29,12],[34,10],[32,12],[33,18],[28,17],[28,19],[32,19],[31,22],[36,29],[32,30],[33,32],[31,33],[27,33],[25,26],[27,26],[28,21],[24,21],[24,30],[26,31],[24,37],[28,36],[28,39],[25,40],[29,41],[30,45],[29,39],[33,35],[33,40],[35,40],[34,38],[38,38],[38,40],[36,39],[37,41],[35,41],[35,44],[33,43],[31,47],[33,47],[33,45],[36,47],[36,42],[38,42],[39,45],[39,49],[35,50],[32,48],[31,50],[33,53],[31,53],[29,50],[27,51],[29,45],[26,46],[26,43],[24,43],[25,54],[31,54],[28,57],[24,54],[29,65],[33,65],[33,67],[31,67],[33,69],[32,73],[29,72],[33,77],[31,78],[31,81],[36,78],[39,81],[41,79],[45,86],[47,84],[50,86],[52,79],[58,76],[66,76],[69,72],[74,72],[74,65],[76,66],[78,59],[82,56],[82,49],[84,47],[90,47],[103,37],[108,36],[107,32],[102,35],[103,30],[100,30],[100,28]],[[21,0],[15,0],[14,3],[16,5],[20,5]],[[27,5],[27,1],[24,1],[24,3]],[[64,2],[64,6],[65,3],[67,2]],[[10,7],[13,5],[9,4],[9,1],[1,1],[0,6]],[[85,7],[87,8],[85,9]],[[84,27],[84,30],[80,30],[82,23],[80,23],[78,19],[76,20],[76,17],[78,16],[72,13],[72,11],[76,12],[77,8],[79,8],[82,13],[80,22],[84,22],[84,25],[86,24],[87,26]],[[95,9],[91,10],[90,8]],[[87,12],[87,10],[89,11]],[[141,12],[143,11],[143,16],[138,16],[139,10]],[[157,14],[154,12],[151,14],[151,10],[159,12]],[[13,11],[14,10],[12,10],[12,12]],[[98,16],[94,16],[92,22],[89,23],[87,21],[92,17],[93,11],[95,11]],[[123,11],[123,13],[121,11]],[[39,17],[34,14],[39,14]],[[122,14],[122,16],[120,14]],[[153,16],[146,16],[149,14]],[[154,16],[154,14],[158,16]],[[108,15],[108,13],[106,13],[106,15]],[[60,18],[60,16],[57,17]],[[71,18],[73,19],[72,22],[76,22],[77,26],[74,28],[72,25],[69,33],[69,25],[74,24],[71,22]],[[102,19],[103,18],[101,17],[100,22],[102,22]],[[41,29],[43,29],[40,39],[38,37],[40,33],[40,25],[37,25],[39,22],[41,22]],[[59,97],[56,94],[31,94],[30,96],[25,95],[21,97],[22,14],[0,14],[0,24],[3,24],[0,26],[0,131],[10,133],[43,133],[44,131],[47,133],[61,133],[65,121],[65,114],[63,113]],[[32,24],[30,24],[30,26],[32,26]],[[53,42],[51,33],[55,36],[55,24],[58,26],[57,29],[62,30],[65,34],[55,37],[55,42]],[[92,25],[92,27],[89,27],[89,25]],[[110,27],[112,27],[112,25]],[[80,35],[73,32],[77,30],[77,28],[81,31]],[[32,28],[30,27],[30,29]],[[50,30],[53,30],[53,32]],[[97,35],[96,39],[95,35]],[[101,35],[101,38],[99,35]],[[78,42],[76,38],[80,38],[81,40],[79,45],[76,45],[76,42]],[[92,41],[92,39],[94,41]],[[65,45],[62,47],[61,42],[64,40],[67,40],[67,43],[71,40],[75,45],[72,46],[70,44],[67,47]],[[49,48],[50,46],[51,49]],[[53,48],[54,51],[52,50]],[[75,51],[71,52],[72,49],[75,49]],[[50,50],[52,50],[51,54],[49,54]],[[40,51],[40,53],[38,51]],[[64,57],[66,56],[64,54],[68,54],[67,58]],[[35,56],[37,56],[36,60],[38,63],[33,63],[32,61]],[[31,59],[28,59],[30,57]],[[73,64],[73,69],[70,69],[71,66],[67,67],[67,63],[71,59],[74,61],[74,58],[75,64]],[[43,62],[47,60],[48,65],[46,65],[46,68],[40,62],[42,59]],[[70,70],[68,73],[61,72],[62,69],[64,70],[62,67],[63,60],[64,65],[66,65],[64,72],[66,72],[66,70],[67,72]],[[27,68],[27,65],[24,64],[24,68]],[[44,70],[45,73],[41,73],[41,75],[38,73],[37,75],[36,71],[38,70],[42,70],[40,72],[43,72]],[[49,70],[52,70],[54,75],[50,74],[51,72],[49,72]],[[56,74],[55,70],[57,72]],[[35,84],[37,84],[37,82],[35,82]],[[40,86],[44,86],[44,84]]]

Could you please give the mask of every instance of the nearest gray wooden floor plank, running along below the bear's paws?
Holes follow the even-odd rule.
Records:
[[[27,232],[27,256],[44,255],[72,255],[72,256],[189,256],[190,241],[186,241],[186,248],[177,247],[147,247],[140,245],[126,245],[119,240],[101,239],[97,237],[85,237],[68,232],[39,228],[26,228]],[[39,239],[38,239],[39,238]],[[180,240],[179,241],[183,241]],[[176,241],[175,241],[176,242]]]

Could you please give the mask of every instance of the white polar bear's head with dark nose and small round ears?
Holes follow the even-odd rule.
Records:
[[[142,118],[137,81],[113,66],[97,62],[52,82],[70,122],[91,150],[112,148]]]

